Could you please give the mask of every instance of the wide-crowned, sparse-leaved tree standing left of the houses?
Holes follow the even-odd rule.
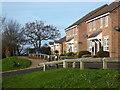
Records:
[[[40,48],[43,40],[54,40],[60,36],[59,30],[52,25],[45,25],[43,21],[37,21],[26,23],[25,35],[28,42],[34,46],[34,48]]]

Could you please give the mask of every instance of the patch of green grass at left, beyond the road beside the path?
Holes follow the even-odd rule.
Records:
[[[19,59],[17,57],[10,57],[10,58],[5,58],[2,59],[2,71],[9,71],[9,70],[15,70],[15,69],[22,69],[29,67],[31,65],[31,61],[26,60],[26,59]],[[14,67],[13,62],[17,62],[20,64],[19,67]]]

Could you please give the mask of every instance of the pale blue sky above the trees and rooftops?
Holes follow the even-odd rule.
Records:
[[[65,36],[64,29],[90,11],[111,2],[3,2],[2,15],[22,26],[35,20],[56,26]]]

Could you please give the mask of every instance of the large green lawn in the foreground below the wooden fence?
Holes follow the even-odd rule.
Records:
[[[118,72],[77,68],[38,71],[4,77],[3,88],[120,88]]]

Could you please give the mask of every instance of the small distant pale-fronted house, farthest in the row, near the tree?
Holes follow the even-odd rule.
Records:
[[[49,46],[51,48],[51,54],[55,54],[55,51],[57,50],[59,52],[59,55],[66,53],[66,36],[55,40],[54,42],[49,42]]]

